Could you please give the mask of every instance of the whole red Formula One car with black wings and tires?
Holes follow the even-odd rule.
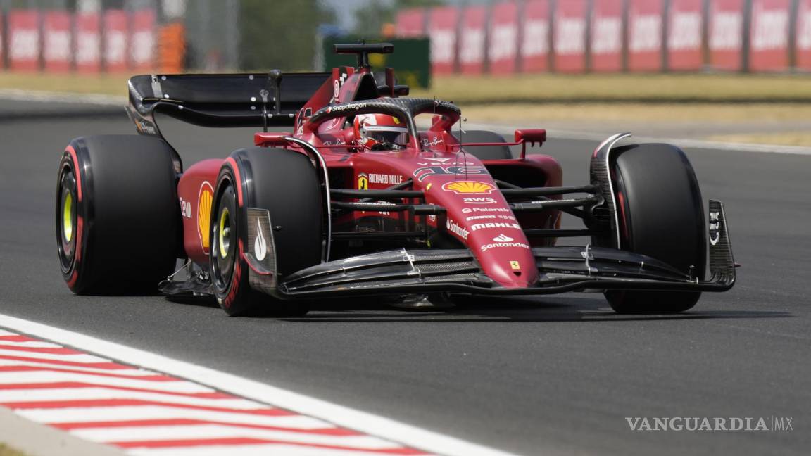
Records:
[[[526,153],[545,131],[517,130],[508,143],[454,128],[453,103],[402,97],[391,69],[375,80],[368,56],[392,45],[336,48],[358,66],[131,78],[140,136],[77,138],[59,165],[57,245],[71,290],[158,286],[213,295],[229,315],[300,314],[335,296],[420,305],[575,290],[603,292],[617,312],[680,312],[735,282],[723,206],[710,200],[705,219],[680,148],[611,136],[591,156],[589,183],[562,187],[554,158]],[[264,128],[255,147],[184,170],[156,113]],[[293,131],[268,132],[282,126]],[[561,229],[561,213],[584,227]],[[574,236],[581,247],[555,247]],[[172,274],[178,259],[185,273]]]

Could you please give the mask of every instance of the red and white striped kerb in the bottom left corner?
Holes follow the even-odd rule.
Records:
[[[426,454],[2,329],[0,407],[127,454]]]

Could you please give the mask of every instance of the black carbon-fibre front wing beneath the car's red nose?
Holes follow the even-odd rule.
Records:
[[[547,295],[612,289],[724,291],[735,283],[736,265],[723,204],[710,200],[709,209],[710,277],[706,281],[650,256],[589,244],[533,248],[539,280],[526,288],[498,286],[482,273],[473,253],[461,249],[375,252],[315,265],[290,274],[281,283],[255,256],[245,256],[251,266],[251,286],[285,299],[430,292]]]

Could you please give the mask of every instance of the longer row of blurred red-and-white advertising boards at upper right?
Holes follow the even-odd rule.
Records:
[[[436,74],[811,71],[811,0],[493,0],[405,9]]]

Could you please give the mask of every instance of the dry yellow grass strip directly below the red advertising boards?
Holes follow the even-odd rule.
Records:
[[[0,72],[0,88],[127,94],[128,75],[49,75]],[[459,104],[534,101],[809,102],[809,75],[513,75],[436,76],[414,96]]]

